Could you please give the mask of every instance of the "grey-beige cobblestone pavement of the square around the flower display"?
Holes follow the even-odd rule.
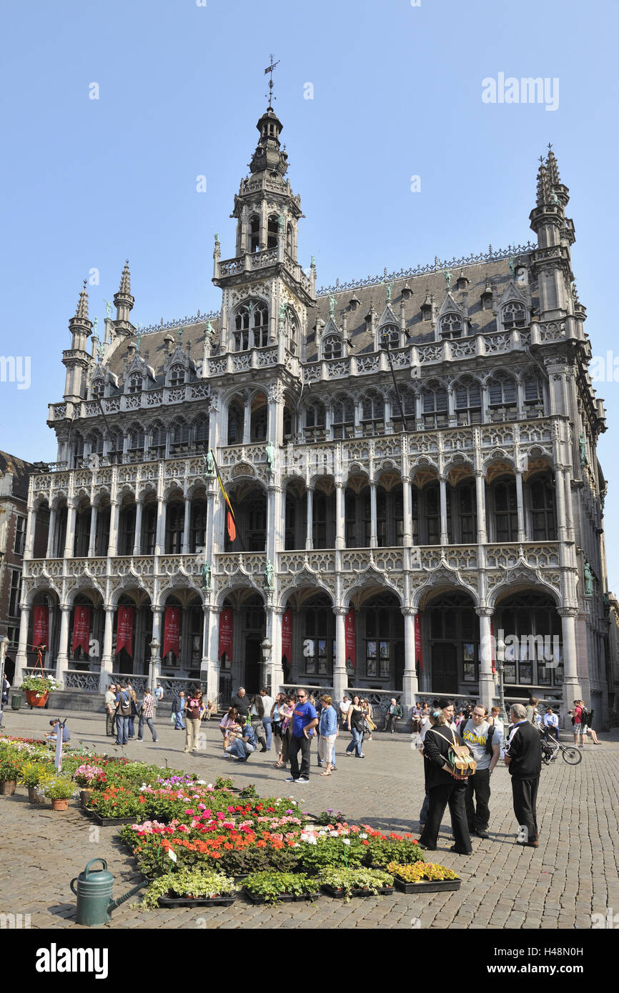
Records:
[[[48,728],[47,711],[6,711],[4,734],[40,737]],[[72,745],[81,741],[102,751],[110,748],[104,719],[70,715]],[[304,810],[343,810],[352,821],[386,830],[418,830],[423,799],[422,760],[404,735],[375,733],[365,743],[366,759],[347,759],[348,735],[338,739],[338,772],[320,778],[316,752],[307,785],[291,788],[286,773],[272,768],[273,755],[255,754],[247,764],[224,759],[216,722],[206,725],[202,751],[183,754],[184,734],[163,719],[159,742],[130,742],[126,755],[201,774],[207,781],[232,776],[238,784],[254,782],[262,795],[290,795]],[[148,731],[146,729],[146,733]],[[150,736],[149,736],[150,737]],[[571,737],[571,736],[568,736]],[[565,736],[563,736],[565,739]],[[615,846],[619,797],[619,732],[587,745],[579,766],[557,759],[542,769],[538,800],[540,848],[515,844],[516,820],[507,769],[499,765],[492,779],[488,841],[473,839],[473,854],[449,852],[451,831],[444,820],[433,861],[454,869],[463,880],[452,893],[356,899],[349,904],[322,897],[315,903],[254,907],[239,899],[231,908],[142,911],[139,895],[113,913],[114,928],[590,928],[591,915],[619,912],[619,872]],[[26,790],[0,797],[0,831],[4,849],[1,914],[30,915],[33,928],[77,927],[75,898],[69,882],[93,858],[107,860],[115,877],[114,897],[139,882],[134,864],[117,840],[117,828],[96,828],[72,801],[67,813],[33,807]]]

